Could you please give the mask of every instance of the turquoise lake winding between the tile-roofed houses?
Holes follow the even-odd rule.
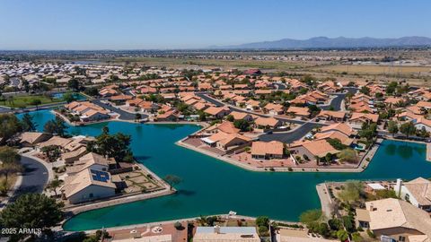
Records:
[[[48,110],[31,114],[39,130],[54,117]],[[109,126],[110,133],[132,135],[136,159],[157,175],[173,174],[183,181],[176,186],[177,194],[80,213],[66,221],[66,230],[100,229],[229,211],[294,221],[301,212],[320,208],[315,186],[324,181],[431,177],[426,146],[418,143],[384,141],[362,173],[261,173],[240,169],[174,144],[197,131],[197,125],[110,122],[69,127],[69,133],[95,136],[101,133],[103,125]]]

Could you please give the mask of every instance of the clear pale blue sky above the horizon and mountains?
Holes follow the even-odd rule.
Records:
[[[431,37],[429,0],[0,0],[0,49],[206,48]]]

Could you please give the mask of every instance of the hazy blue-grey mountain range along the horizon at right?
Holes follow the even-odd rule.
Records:
[[[431,46],[431,38],[409,36],[397,39],[377,38],[328,38],[279,39],[235,46],[212,46],[217,49],[304,49],[304,48],[388,48]]]

